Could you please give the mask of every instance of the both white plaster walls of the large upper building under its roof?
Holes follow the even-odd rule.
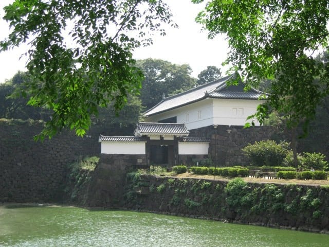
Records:
[[[213,99],[206,98],[177,109],[148,116],[147,121],[157,122],[176,117],[177,122],[185,123],[191,129],[211,125],[244,126],[247,117],[254,114],[260,100],[249,99]],[[255,121],[255,125],[259,125]]]

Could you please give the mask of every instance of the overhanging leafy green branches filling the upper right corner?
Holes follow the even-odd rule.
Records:
[[[328,45],[328,19],[327,0],[211,0],[196,20],[209,38],[227,34],[227,63],[247,85],[273,80],[267,102],[251,117],[263,123],[269,109],[276,109],[290,127],[303,121],[305,131],[329,93],[329,66],[313,57]]]

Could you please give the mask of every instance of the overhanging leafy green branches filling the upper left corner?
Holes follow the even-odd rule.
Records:
[[[64,127],[85,134],[110,101],[118,112],[143,78],[132,50],[152,43],[150,33],[165,35],[161,24],[175,26],[162,0],[15,0],[4,10],[12,29],[0,51],[29,42],[31,81],[20,92],[53,112],[39,138]]]

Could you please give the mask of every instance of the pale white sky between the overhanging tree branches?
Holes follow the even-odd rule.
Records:
[[[192,76],[197,75],[208,65],[225,68],[222,63],[226,59],[228,44],[223,37],[208,40],[207,32],[201,31],[201,26],[194,22],[197,13],[203,9],[201,5],[191,3],[191,0],[165,0],[174,15],[173,19],[179,28],[166,27],[165,37],[155,36],[153,45],[136,49],[135,59],[155,58],[167,60],[175,64],[189,64],[193,69]],[[4,6],[12,0],[0,0],[0,16],[4,15]],[[9,27],[1,18],[0,40],[7,37]],[[0,53],[0,83],[10,79],[18,70],[25,70],[26,58],[20,59],[27,51],[27,46],[22,45],[10,51]]]

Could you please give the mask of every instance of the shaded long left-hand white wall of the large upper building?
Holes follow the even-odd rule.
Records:
[[[212,100],[204,99],[168,112],[150,116],[145,121],[158,122],[163,119],[177,117],[177,122],[185,123],[186,127],[191,130],[212,125],[212,111]]]

